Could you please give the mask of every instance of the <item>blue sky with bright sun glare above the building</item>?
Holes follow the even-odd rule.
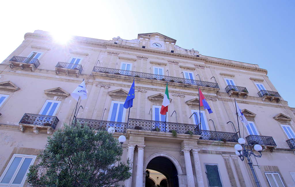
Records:
[[[111,40],[159,32],[205,56],[258,64],[295,107],[295,1],[6,1],[3,61],[35,30]],[[3,7],[6,7],[5,9]]]

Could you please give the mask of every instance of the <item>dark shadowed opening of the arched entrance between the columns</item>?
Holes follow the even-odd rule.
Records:
[[[178,172],[171,160],[166,157],[158,156],[150,160],[146,169],[155,170],[162,173],[166,179],[162,180],[160,185],[165,187],[179,187]],[[146,179],[145,184],[149,184],[149,178]]]

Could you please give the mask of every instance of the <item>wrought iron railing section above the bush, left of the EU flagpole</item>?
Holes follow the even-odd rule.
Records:
[[[81,125],[87,124],[94,130],[107,130],[110,127],[114,127],[116,132],[126,133],[127,123],[114,122],[114,121],[102,121],[76,118],[76,121],[80,121]]]

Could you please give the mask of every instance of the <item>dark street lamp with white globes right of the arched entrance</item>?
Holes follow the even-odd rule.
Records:
[[[253,177],[255,179],[255,183],[256,183],[257,187],[260,187],[260,184],[258,182],[257,176],[256,176],[254,168],[253,168],[253,164],[250,160],[250,156],[254,155],[255,157],[261,157],[262,147],[261,147],[261,145],[258,145],[258,144],[254,145],[254,149],[260,153],[260,155],[255,155],[252,150],[245,148],[245,146],[248,146],[248,145],[245,144],[246,140],[244,138],[239,138],[238,142],[239,142],[239,144],[235,145],[236,155],[239,156],[242,161],[244,160],[245,157],[247,158],[248,164],[251,168]]]

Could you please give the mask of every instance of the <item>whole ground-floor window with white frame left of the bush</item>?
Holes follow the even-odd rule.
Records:
[[[0,177],[0,186],[23,186],[37,156],[14,154]]]

